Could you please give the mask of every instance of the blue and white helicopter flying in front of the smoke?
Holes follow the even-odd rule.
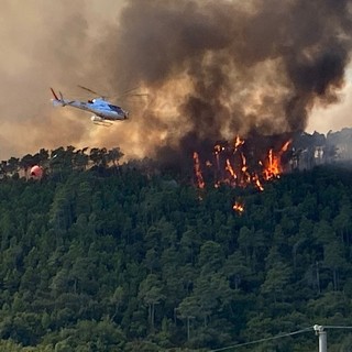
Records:
[[[94,90],[78,86],[81,89],[85,89],[96,96],[99,96]],[[136,88],[130,89],[125,91],[122,96],[130,95],[132,90]],[[54,99],[52,99],[54,107],[73,107],[80,110],[86,110],[92,112],[94,116],[90,120],[100,125],[109,127],[112,124],[113,121],[118,120],[127,120],[129,118],[129,111],[122,109],[119,106],[112,105],[109,102],[106,97],[99,97],[94,99],[88,99],[88,101],[79,101],[79,100],[68,100],[64,99],[63,94],[59,91],[59,97],[56,95],[53,88],[51,88]],[[142,95],[134,95],[134,96],[142,96]]]

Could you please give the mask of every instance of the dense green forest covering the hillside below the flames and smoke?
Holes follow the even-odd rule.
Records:
[[[352,168],[264,191],[61,147],[0,165],[1,351],[316,351],[352,326]],[[41,164],[45,176],[29,178]],[[243,213],[232,209],[235,199]],[[329,351],[352,351],[349,330]],[[231,349],[226,351],[232,351]]]

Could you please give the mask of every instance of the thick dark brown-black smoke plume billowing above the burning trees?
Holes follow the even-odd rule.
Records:
[[[141,142],[178,163],[219,139],[304,131],[339,100],[351,24],[348,0],[132,0],[109,36],[113,77],[146,88]]]

